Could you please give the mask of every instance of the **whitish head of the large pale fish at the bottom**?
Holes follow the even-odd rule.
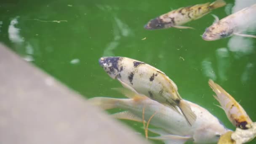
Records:
[[[230,131],[221,123],[212,123],[195,131],[193,139],[195,143],[216,143],[221,135]]]

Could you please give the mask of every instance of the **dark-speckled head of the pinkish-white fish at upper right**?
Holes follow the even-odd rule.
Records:
[[[205,29],[202,35],[203,40],[212,41],[219,40],[231,36],[233,29],[230,28],[228,23],[216,22],[210,27]]]

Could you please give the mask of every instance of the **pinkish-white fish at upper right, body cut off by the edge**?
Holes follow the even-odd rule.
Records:
[[[213,15],[215,17],[215,22],[205,30],[202,38],[204,40],[219,40],[232,35],[256,38],[255,35],[242,34],[243,31],[248,29],[248,26],[254,27],[256,24],[255,15],[256,4],[243,8],[221,20]]]

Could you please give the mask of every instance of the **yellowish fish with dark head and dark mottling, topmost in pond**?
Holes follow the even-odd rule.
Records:
[[[226,5],[224,0],[216,0],[213,3],[204,3],[194,6],[179,8],[170,11],[155,19],[152,19],[144,26],[145,29],[163,29],[169,27],[176,27],[181,29],[191,28],[181,26],[189,21],[199,19],[210,13],[213,9]]]

